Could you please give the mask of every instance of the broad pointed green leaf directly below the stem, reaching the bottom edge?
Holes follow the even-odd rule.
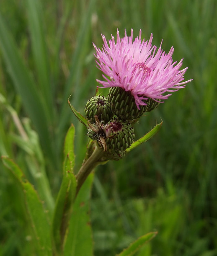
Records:
[[[90,173],[73,205],[68,235],[65,239],[64,256],[93,256],[93,238],[89,216],[92,183],[93,173]]]

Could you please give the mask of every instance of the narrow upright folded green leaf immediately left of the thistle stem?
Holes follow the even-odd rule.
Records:
[[[73,168],[75,165],[74,135],[75,127],[71,125],[65,137],[63,179],[57,196],[52,223],[54,247],[58,253],[61,252],[63,248],[62,246],[72,213],[72,203],[75,199],[77,186],[77,181],[73,174]]]

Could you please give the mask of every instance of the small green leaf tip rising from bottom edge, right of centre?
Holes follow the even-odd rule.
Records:
[[[128,248],[124,249],[121,253],[116,256],[131,256],[136,253],[145,243],[149,242],[152,238],[157,235],[158,232],[151,232],[141,236],[135,242],[131,243]]]

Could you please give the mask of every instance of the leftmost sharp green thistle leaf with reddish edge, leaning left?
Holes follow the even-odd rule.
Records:
[[[13,160],[5,156],[2,157],[2,160],[23,190],[21,200],[24,198],[36,251],[39,255],[52,256],[49,218],[36,190]]]

